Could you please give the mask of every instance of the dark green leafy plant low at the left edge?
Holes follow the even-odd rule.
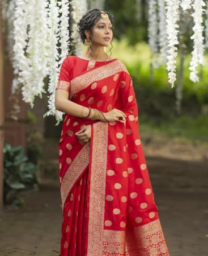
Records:
[[[37,188],[36,165],[28,162],[22,146],[11,147],[5,143],[4,152],[4,190],[5,204],[19,204],[18,192]]]

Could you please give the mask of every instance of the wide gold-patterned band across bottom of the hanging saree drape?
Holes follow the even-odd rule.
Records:
[[[102,255],[169,256],[159,218],[132,230],[104,230]]]

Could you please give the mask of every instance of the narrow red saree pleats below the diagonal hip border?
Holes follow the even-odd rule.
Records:
[[[63,210],[60,256],[84,256],[88,168],[74,185]]]

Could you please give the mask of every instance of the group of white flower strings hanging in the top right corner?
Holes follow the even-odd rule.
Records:
[[[194,10],[193,13],[190,11],[190,15],[193,17],[194,26],[193,35],[190,37],[190,39],[193,40],[193,51],[189,69],[191,71],[190,80],[197,82],[199,81],[197,67],[199,64],[205,65],[203,53],[205,47],[208,48],[208,7],[206,10],[203,9],[206,5],[208,6],[208,1],[205,3],[203,0],[149,0],[149,45],[154,55],[156,55],[158,53],[159,40],[160,55],[162,56],[163,61],[167,61],[168,82],[171,84],[172,88],[176,81],[176,57],[178,55],[177,45],[179,44],[180,8],[182,11],[186,12],[188,10]],[[156,11],[157,6],[159,8],[159,14],[157,14]],[[203,13],[205,12],[206,21],[204,27]],[[166,20],[164,19],[164,15],[166,16]],[[205,38],[203,36],[204,30]]]

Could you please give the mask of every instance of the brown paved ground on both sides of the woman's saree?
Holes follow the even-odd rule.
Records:
[[[160,221],[171,256],[208,255],[207,163],[146,157]],[[27,207],[5,209],[1,256],[58,256],[61,198],[57,185],[41,185]],[[139,255],[138,255],[139,256]]]

